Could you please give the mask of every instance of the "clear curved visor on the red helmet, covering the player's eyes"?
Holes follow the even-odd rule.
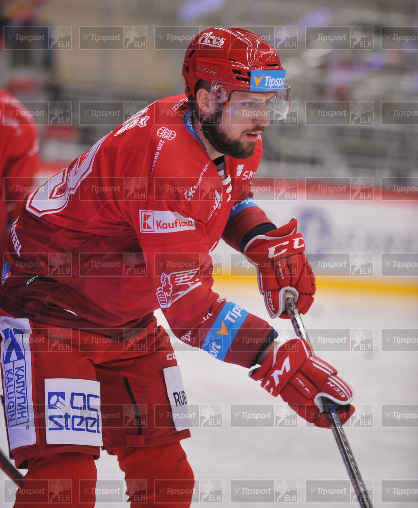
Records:
[[[225,104],[226,103],[226,104]],[[212,82],[211,106],[214,111],[224,111],[245,119],[269,118],[276,123],[286,118],[290,107],[290,85],[284,84],[280,90],[271,92],[233,91],[227,101],[227,93],[222,83]]]

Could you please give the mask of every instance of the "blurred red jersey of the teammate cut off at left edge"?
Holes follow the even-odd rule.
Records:
[[[0,89],[0,249],[19,214],[23,198],[33,190],[39,169],[36,126],[11,93]]]

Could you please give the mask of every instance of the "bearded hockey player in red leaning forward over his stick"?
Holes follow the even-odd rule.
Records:
[[[184,342],[227,363],[260,364],[251,377],[309,422],[328,426],[321,395],[342,422],[351,415],[351,388],[305,341],[276,344],[267,322],[211,289],[210,251],[222,236],[257,265],[272,317],[286,317],[285,287],[302,313],[313,302],[296,220],[277,228],[248,185],[269,111],[288,110],[284,72],[258,35],[204,30],[186,52],[185,96],[139,111],[27,197],[0,297],[8,433],[16,465],[28,468],[25,485],[70,479],[67,506],[93,506],[103,445],[127,482],[147,480],[147,506],[189,506],[194,477],[179,444],[189,436],[187,399],[153,315],[159,307]],[[127,198],[133,178],[146,181],[146,193]],[[125,271],[132,253],[140,264]],[[57,328],[69,338],[49,351]],[[27,405],[17,410],[22,394]],[[129,427],[125,408],[135,416]],[[116,415],[111,424],[102,412]],[[15,506],[40,502],[27,492],[17,491]]]

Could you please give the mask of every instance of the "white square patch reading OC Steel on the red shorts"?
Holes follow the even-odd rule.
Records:
[[[90,379],[45,379],[48,444],[102,446],[100,383]]]

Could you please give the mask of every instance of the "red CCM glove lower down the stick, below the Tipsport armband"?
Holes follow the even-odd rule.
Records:
[[[341,424],[354,413],[350,402],[354,391],[335,374],[337,371],[328,363],[312,355],[309,344],[299,338],[290,339],[273,351],[249,376],[274,397],[279,394],[299,416],[317,427],[329,428],[322,414],[322,397],[335,403]]]

